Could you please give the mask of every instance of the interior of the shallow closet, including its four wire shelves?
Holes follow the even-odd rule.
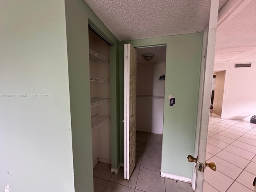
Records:
[[[111,164],[110,46],[89,29],[93,166]]]

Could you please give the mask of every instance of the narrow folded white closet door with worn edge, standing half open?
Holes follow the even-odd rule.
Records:
[[[137,52],[124,44],[124,178],[130,178],[136,155]]]

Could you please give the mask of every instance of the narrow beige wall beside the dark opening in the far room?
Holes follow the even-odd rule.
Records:
[[[221,117],[226,71],[220,71],[214,74],[216,75],[216,79],[212,112]]]

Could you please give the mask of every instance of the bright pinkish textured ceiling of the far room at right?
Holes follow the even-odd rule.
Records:
[[[215,62],[256,62],[256,0],[217,28]]]

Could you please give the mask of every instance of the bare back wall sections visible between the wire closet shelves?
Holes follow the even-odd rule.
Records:
[[[89,30],[89,49],[109,58],[110,46],[91,30]],[[90,77],[110,79],[110,63],[90,60]],[[110,98],[110,82],[91,81],[90,96],[91,98]],[[110,102],[91,107],[91,116],[96,114],[110,115]],[[108,121],[92,132],[92,162],[94,165],[98,158],[101,162],[111,164],[110,127],[110,121]]]

